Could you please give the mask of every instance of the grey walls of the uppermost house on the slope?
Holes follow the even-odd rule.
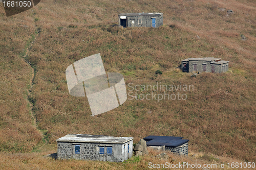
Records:
[[[161,16],[126,16],[127,27],[152,27],[152,18],[156,18],[156,28],[163,25],[163,15]],[[141,24],[139,24],[138,19],[141,19]],[[120,25],[121,25],[121,20],[119,16],[119,26]]]

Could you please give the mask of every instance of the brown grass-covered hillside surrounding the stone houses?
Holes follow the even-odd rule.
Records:
[[[23,161],[16,154],[21,152],[28,162],[35,157],[45,164],[40,156],[56,152],[57,138],[80,133],[128,136],[134,142],[148,135],[183,136],[190,140],[191,153],[255,162],[255,9],[252,0],[42,0],[6,17],[1,7],[1,158]],[[131,12],[163,12],[164,24],[119,28],[117,15]],[[193,85],[194,90],[184,92],[186,100],[127,100],[90,116],[87,98],[69,95],[65,70],[97,53],[106,71],[123,74],[127,92],[129,83],[160,82]],[[227,60],[229,71],[191,78],[178,67],[181,60],[195,57]],[[161,76],[155,75],[158,69]],[[111,168],[103,162],[95,167],[106,164]]]

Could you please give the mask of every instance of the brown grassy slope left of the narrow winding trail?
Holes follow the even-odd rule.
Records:
[[[27,101],[32,70],[20,56],[32,39],[32,17],[8,20],[2,14],[0,25],[0,151],[28,152],[41,140]],[[30,28],[18,27],[27,25]]]

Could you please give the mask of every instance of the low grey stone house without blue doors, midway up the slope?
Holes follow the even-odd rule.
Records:
[[[228,71],[229,61],[221,60],[221,58],[188,58],[181,61],[181,69],[184,72],[215,72],[221,73]]]

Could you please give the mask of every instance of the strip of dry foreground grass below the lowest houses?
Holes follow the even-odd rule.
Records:
[[[133,157],[121,163],[100,162],[100,161],[83,161],[83,160],[55,160],[50,157],[45,157],[48,153],[17,153],[17,154],[0,154],[0,168],[2,169],[149,169],[150,162],[153,164],[217,164],[220,169],[220,162],[241,162],[237,159],[221,157],[217,155],[203,155],[197,157],[178,156],[167,152],[169,158],[160,158],[160,151],[149,150],[150,155]],[[155,165],[156,166],[156,165]],[[184,166],[185,169],[186,166]],[[225,166],[227,168],[227,166]],[[166,168],[161,168],[166,169]],[[167,168],[169,169],[169,168]],[[177,168],[182,169],[182,168]],[[192,169],[192,168],[188,168]]]

